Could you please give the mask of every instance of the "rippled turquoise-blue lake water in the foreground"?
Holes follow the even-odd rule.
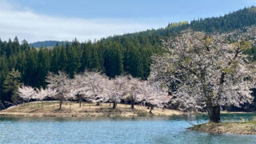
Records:
[[[256,114],[222,114],[222,120]],[[200,118],[206,122],[206,117]],[[0,143],[256,143],[254,135],[207,134],[187,130],[172,118],[0,118]]]

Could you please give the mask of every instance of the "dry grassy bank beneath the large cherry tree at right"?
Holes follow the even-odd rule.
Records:
[[[226,134],[256,134],[256,120],[250,122],[207,122],[190,127],[190,130],[198,130],[208,133]]]

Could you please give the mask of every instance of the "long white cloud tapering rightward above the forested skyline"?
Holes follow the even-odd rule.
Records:
[[[158,28],[159,26],[159,23],[150,23],[150,21],[122,18],[57,18],[36,14],[27,8],[17,8],[6,1],[0,2],[0,38],[2,40],[18,36],[20,40],[26,39],[28,42],[70,41],[73,38],[84,42],[88,39],[94,40],[94,38]]]

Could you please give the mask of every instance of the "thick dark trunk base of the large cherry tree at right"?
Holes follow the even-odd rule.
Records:
[[[207,111],[210,122],[221,122],[221,106],[211,106]]]

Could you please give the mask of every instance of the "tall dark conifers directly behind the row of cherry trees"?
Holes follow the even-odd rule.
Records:
[[[158,52],[158,38],[138,36],[99,42],[79,43],[74,40],[54,46],[53,49],[36,49],[18,38],[0,41],[0,89],[2,107],[15,103],[17,86],[46,87],[46,74],[65,71],[74,78],[84,70],[98,70],[110,78],[115,75],[131,74],[146,79],[150,74],[150,56]],[[159,42],[158,42],[159,43]]]

